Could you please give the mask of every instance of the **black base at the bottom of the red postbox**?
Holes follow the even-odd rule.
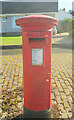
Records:
[[[51,108],[36,112],[24,107],[23,118],[51,118]]]

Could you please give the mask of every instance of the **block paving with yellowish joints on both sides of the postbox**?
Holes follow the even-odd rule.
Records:
[[[0,60],[1,59],[2,64],[0,63],[0,106],[2,108],[0,108],[0,116],[2,120],[6,120],[7,116],[12,117],[13,113],[15,113],[17,116],[17,114],[21,114],[23,111],[22,50],[3,50],[2,56],[0,55]],[[74,106],[72,104],[73,80],[72,50],[52,48],[51,102],[52,104],[58,105],[58,110],[60,111],[59,118],[71,118],[72,112],[74,112],[74,108],[72,109],[72,106]],[[18,94],[16,94],[15,91],[18,91],[18,89],[20,91],[18,92]],[[9,106],[6,106],[7,101]],[[17,107],[15,106],[16,104]],[[13,112],[11,111],[11,109],[9,109],[10,106],[13,106]],[[18,109],[19,113],[17,113]],[[55,117],[57,118],[57,116]],[[52,116],[52,118],[54,118],[54,116]]]

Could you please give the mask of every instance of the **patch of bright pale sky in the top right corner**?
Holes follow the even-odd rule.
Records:
[[[72,2],[74,0],[58,0],[58,9],[66,8],[66,11],[72,10]]]

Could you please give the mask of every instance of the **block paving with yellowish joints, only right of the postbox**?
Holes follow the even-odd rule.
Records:
[[[72,56],[70,53],[52,55],[52,103],[58,103],[61,118],[72,117]]]

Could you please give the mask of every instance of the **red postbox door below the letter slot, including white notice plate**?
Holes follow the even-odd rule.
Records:
[[[45,110],[50,107],[51,45],[30,43],[28,51],[28,107]]]

